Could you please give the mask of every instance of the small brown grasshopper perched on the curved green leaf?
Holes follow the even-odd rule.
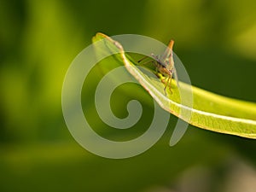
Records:
[[[163,76],[166,77],[165,80],[165,95],[166,95],[166,87],[169,87],[169,90],[172,94],[172,90],[171,90],[171,85],[172,85],[172,77],[174,76],[176,82],[177,82],[177,86],[178,86],[178,80],[177,80],[177,71],[176,68],[174,66],[174,60],[173,60],[173,44],[174,41],[171,40],[165,50],[165,52],[162,55],[154,55],[151,54],[151,56],[154,58],[154,60],[151,61],[147,61],[144,64],[148,63],[148,62],[153,62],[155,69],[156,69],[156,73],[160,73]],[[143,59],[137,61],[138,63],[140,63],[141,61],[145,60],[146,58],[148,58],[148,56],[143,57]]]

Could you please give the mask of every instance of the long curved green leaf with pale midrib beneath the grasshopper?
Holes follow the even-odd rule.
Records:
[[[169,113],[205,130],[256,138],[256,103],[219,96],[183,82],[179,82],[177,89],[175,80],[172,80],[172,93],[167,90],[165,95],[164,84],[160,81],[164,78],[156,79],[144,73],[137,67],[137,62],[125,54],[122,45],[112,38],[97,33],[93,41],[98,40],[104,40],[106,44],[106,50],[101,51],[117,52],[118,50],[119,55],[115,55],[115,63],[111,64],[114,66],[123,63],[128,72],[159,103],[160,107]],[[191,93],[193,101],[190,102],[193,106],[188,102],[192,98]],[[181,102],[181,97],[183,102]],[[184,114],[189,114],[189,116]]]

